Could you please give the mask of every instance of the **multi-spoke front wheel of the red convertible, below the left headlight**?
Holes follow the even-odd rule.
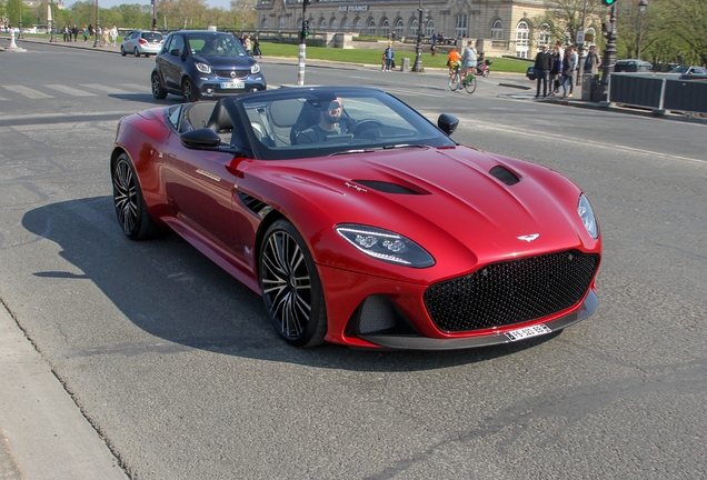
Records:
[[[268,228],[258,258],[260,291],[277,332],[291,346],[315,347],[327,333],[327,310],[307,243],[285,219]]]

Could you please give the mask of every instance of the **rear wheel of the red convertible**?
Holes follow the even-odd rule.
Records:
[[[113,206],[122,232],[132,240],[155,237],[159,228],[147,211],[135,168],[125,152],[120,153],[110,173],[113,183]]]

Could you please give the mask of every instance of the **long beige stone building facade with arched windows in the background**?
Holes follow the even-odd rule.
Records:
[[[419,9],[426,38],[477,39],[487,54],[532,58],[550,41],[549,29],[534,27],[545,13],[545,0],[258,0],[258,30],[301,30],[302,10],[309,31],[417,38]],[[588,29],[591,38],[594,29]]]

